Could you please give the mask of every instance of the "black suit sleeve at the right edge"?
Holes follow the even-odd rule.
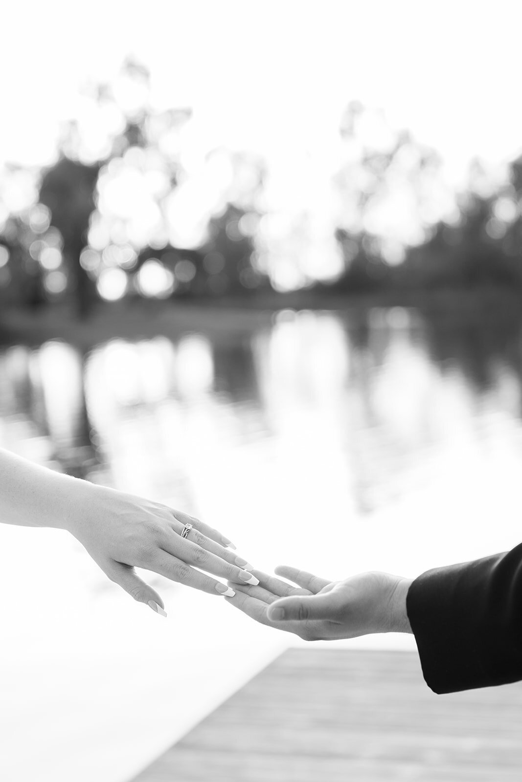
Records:
[[[522,679],[522,543],[415,579],[406,610],[436,693]]]

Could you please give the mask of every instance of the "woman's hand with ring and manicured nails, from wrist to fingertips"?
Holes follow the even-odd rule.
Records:
[[[205,573],[231,583],[258,583],[252,565],[236,557],[232,543],[197,518],[166,505],[84,481],[68,484],[63,527],[82,543],[111,581],[136,601],[160,614],[160,596],[135,572],[135,566],[209,594],[234,594]],[[185,523],[193,525],[186,538]],[[234,547],[235,548],[235,547]]]

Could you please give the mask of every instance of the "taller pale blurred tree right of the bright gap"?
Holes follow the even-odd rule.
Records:
[[[345,163],[334,179],[340,194],[337,241],[345,271],[336,287],[375,289],[393,278],[410,246],[429,239],[453,206],[433,149],[395,131],[382,111],[351,102],[340,124]]]

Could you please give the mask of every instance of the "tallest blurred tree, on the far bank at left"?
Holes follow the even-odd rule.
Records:
[[[41,180],[40,203],[61,236],[67,292],[81,316],[100,293],[108,299],[124,294],[128,270],[147,239],[164,243],[162,202],[181,169],[172,135],[191,112],[154,111],[149,87],[148,70],[133,58],[113,84],[87,85],[82,120],[65,127],[59,160]],[[152,224],[144,228],[143,217],[151,213]]]

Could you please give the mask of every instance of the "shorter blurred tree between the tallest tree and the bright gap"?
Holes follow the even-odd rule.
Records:
[[[224,148],[207,155],[196,185],[182,175],[175,198],[164,210],[171,214],[171,231],[168,217],[165,231],[174,238],[191,239],[192,246],[159,239],[142,248],[132,273],[135,289],[145,293],[149,274],[157,274],[159,280],[159,264],[169,274],[164,275],[160,295],[167,290],[176,297],[243,296],[266,285],[266,275],[254,267],[263,175],[264,163],[257,156]],[[189,211],[187,205],[195,196],[197,209]],[[180,226],[179,215],[184,213],[185,224]]]

